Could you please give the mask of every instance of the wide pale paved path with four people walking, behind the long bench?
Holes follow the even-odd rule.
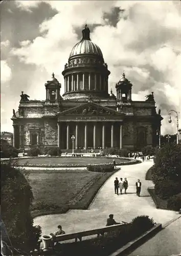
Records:
[[[164,223],[175,218],[178,216],[177,212],[156,209],[147,191],[148,186],[152,186],[152,182],[145,180],[145,174],[152,164],[150,160],[140,164],[122,166],[121,170],[112,175],[102,186],[88,210],[70,210],[66,214],[37,217],[34,219],[34,224],[42,227],[43,234],[49,234],[57,230],[59,224],[66,233],[104,227],[109,214],[114,214],[116,221],[126,222],[130,222],[138,215],[148,215],[156,223]],[[114,180],[116,177],[127,178],[129,183],[127,195],[115,195]],[[141,197],[135,195],[137,179],[142,182]]]

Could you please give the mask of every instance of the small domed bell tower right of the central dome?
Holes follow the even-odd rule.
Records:
[[[131,88],[132,84],[125,78],[125,74],[123,73],[122,78],[116,84],[117,101],[131,101]]]

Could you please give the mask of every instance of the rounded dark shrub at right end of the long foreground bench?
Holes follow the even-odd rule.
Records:
[[[141,215],[138,217],[135,217],[131,221],[132,225],[132,233],[137,236],[141,233],[146,232],[148,229],[152,228],[154,226],[153,219],[149,218],[149,216]]]

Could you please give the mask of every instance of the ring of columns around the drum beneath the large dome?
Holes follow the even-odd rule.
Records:
[[[80,74],[82,75],[81,80],[80,80]],[[70,79],[70,76],[72,77],[72,79]],[[94,76],[94,84],[92,84],[93,76]],[[99,83],[98,83],[98,79],[99,79]],[[103,79],[103,84],[102,84],[102,79]],[[71,84],[70,84],[70,80],[71,80]],[[82,82],[81,88],[80,88],[80,82]],[[92,84],[92,88],[91,88],[91,84]],[[71,74],[64,77],[64,87],[65,87],[65,93],[78,91],[78,90],[85,90],[85,89],[108,91],[108,77],[104,77],[102,74],[88,73],[88,87],[86,88],[84,73]]]

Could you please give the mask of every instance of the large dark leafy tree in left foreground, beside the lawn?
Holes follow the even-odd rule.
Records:
[[[2,220],[12,248],[30,252],[41,235],[40,226],[33,226],[30,206],[33,200],[28,178],[10,162],[1,164]],[[10,245],[11,246],[11,245]]]

